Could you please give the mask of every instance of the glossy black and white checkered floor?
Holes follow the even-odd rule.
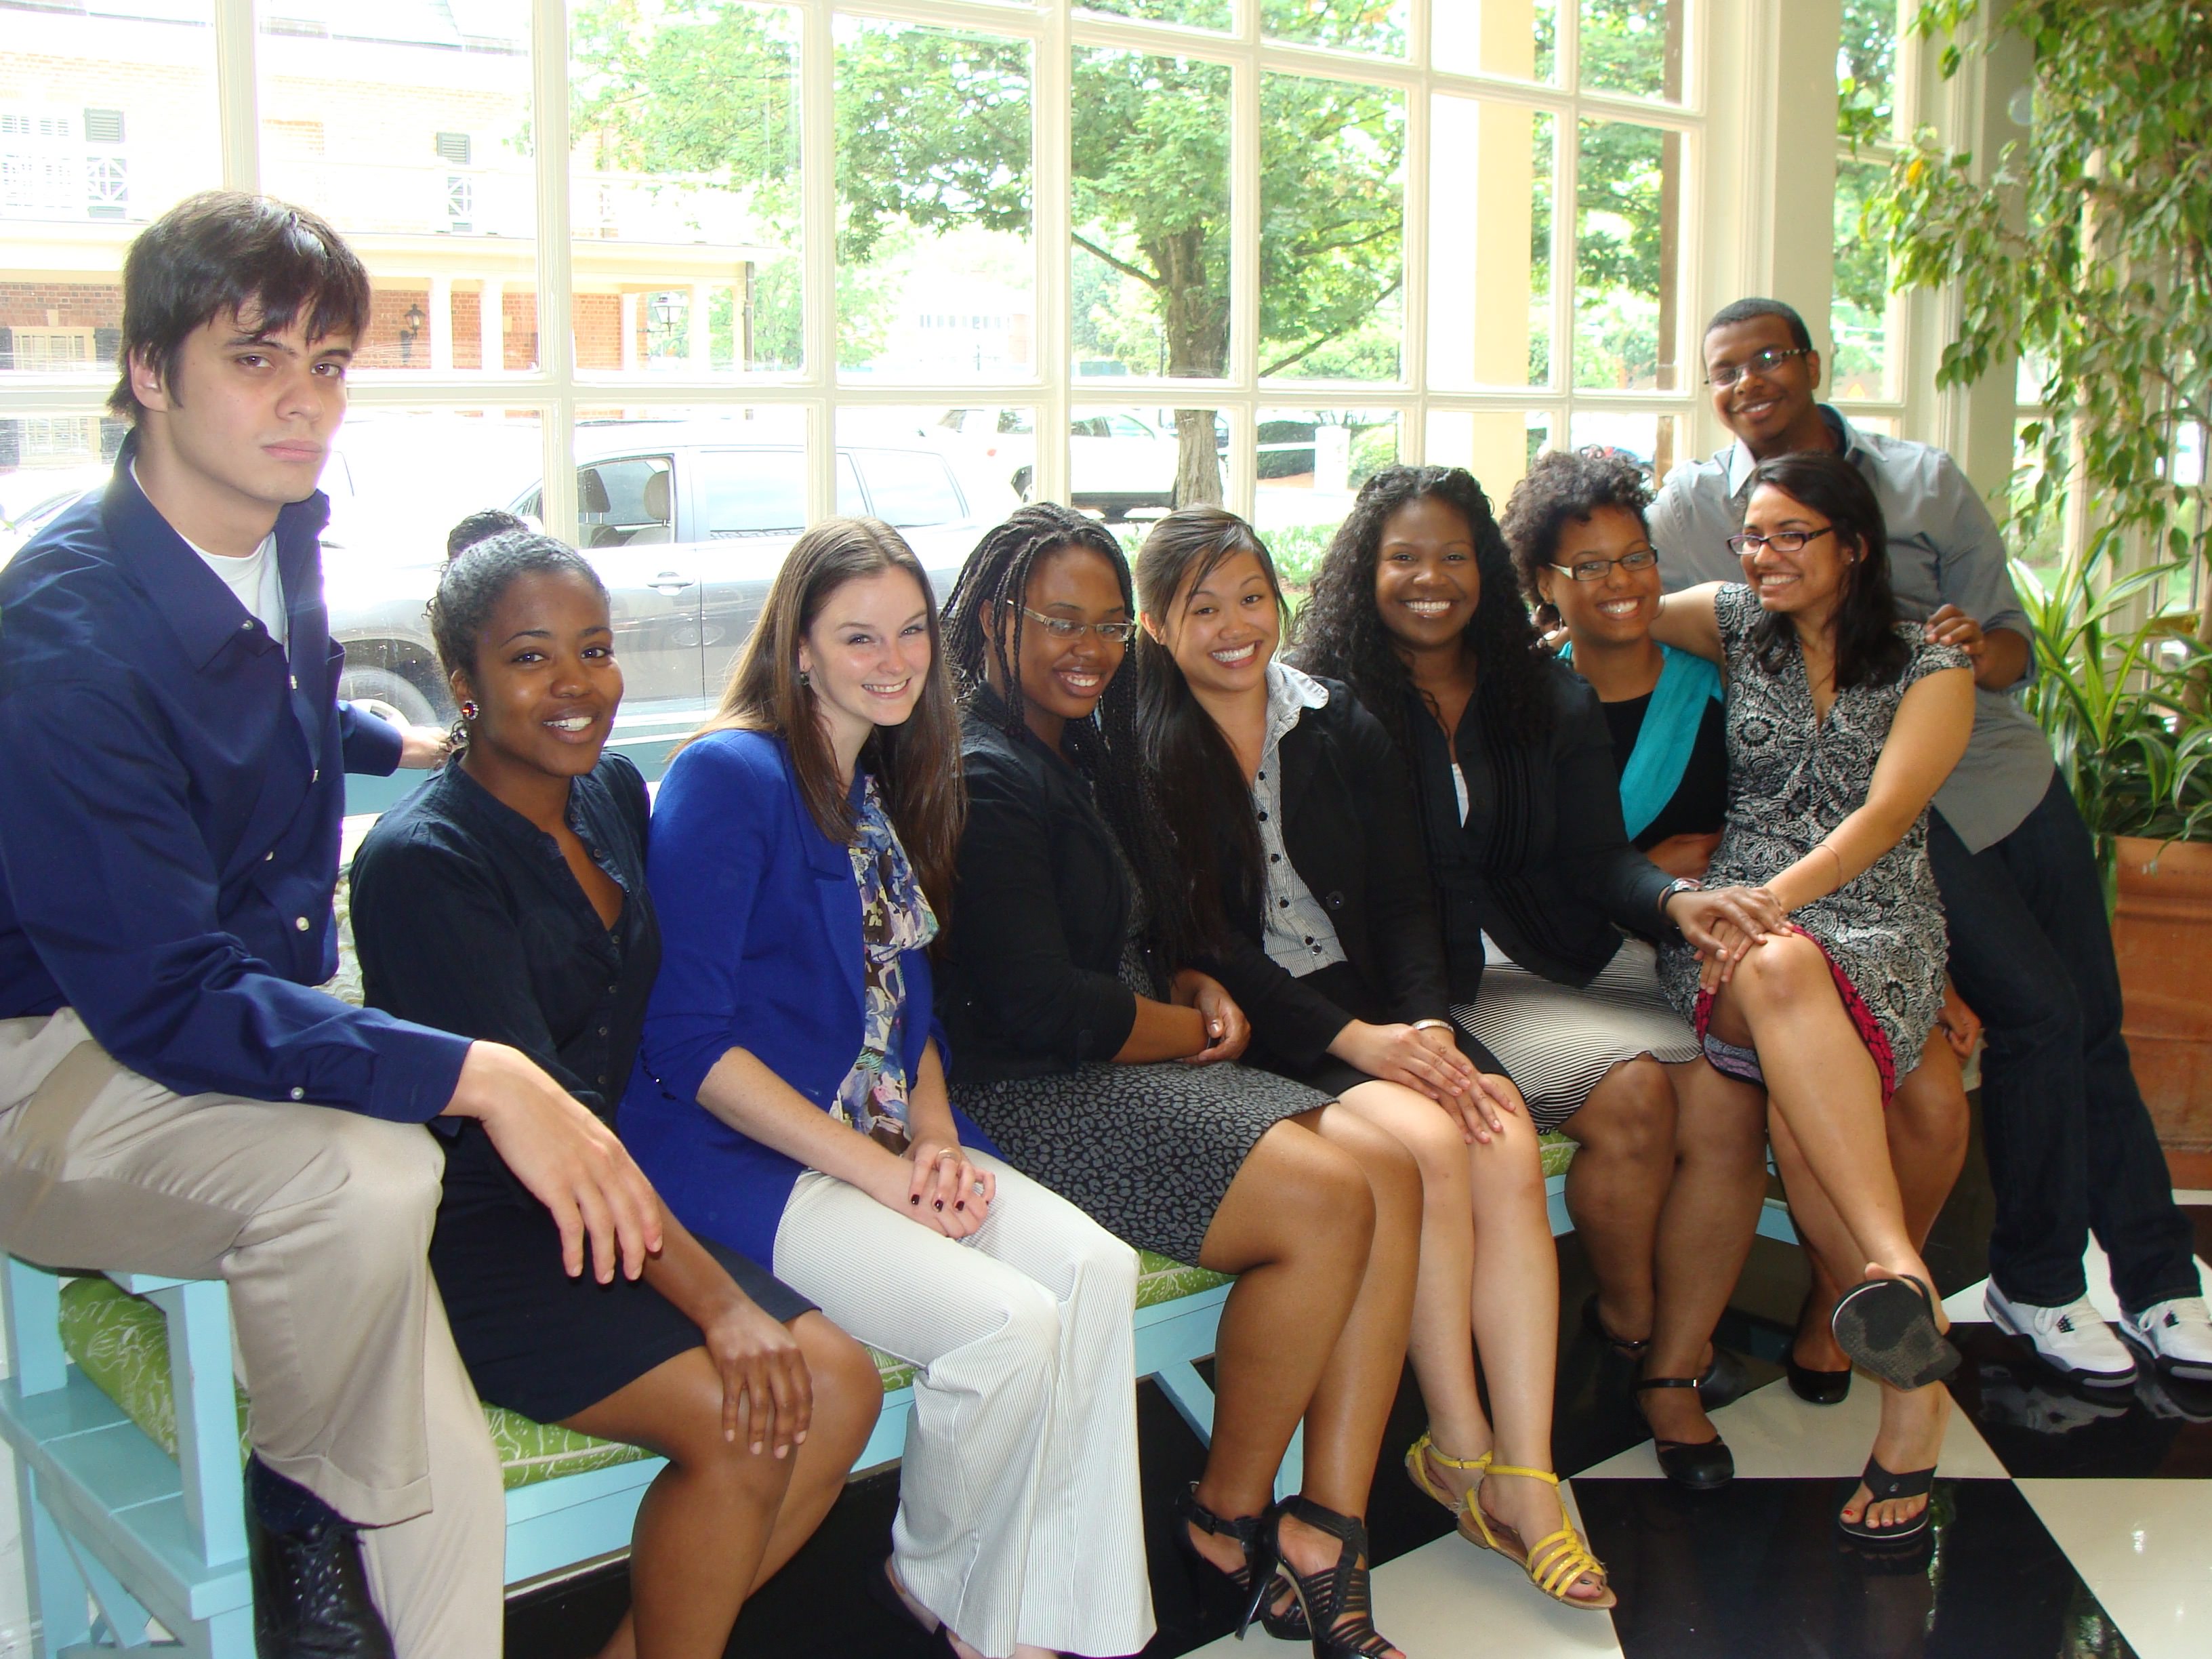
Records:
[[[2212,1192],[2179,1194],[2212,1256]],[[2212,1655],[2212,1389],[2139,1383],[2119,1398],[2068,1389],[2000,1336],[1982,1310],[1989,1186],[1973,1155],[1929,1241],[1966,1367],[1936,1484],[1936,1542],[1902,1562],[1845,1551],[1832,1515],[1874,1440],[1865,1383],[1812,1407],[1781,1380],[1785,1321],[1803,1294],[1796,1250],[1759,1241],[1719,1338],[1750,1356],[1750,1396],[1717,1413],[1739,1480],[1686,1493],[1659,1475],[1628,1402],[1628,1371],[1573,1314],[1590,1290],[1559,1241],[1557,1467],[1590,1546],[1613,1571],[1610,1615],[1546,1601],[1498,1555],[1471,1548],[1398,1471],[1422,1427],[1398,1398],[1369,1526],[1380,1626],[1409,1659],[2205,1659]],[[2110,1316],[2101,1259],[2090,1283]],[[2212,1281],[2212,1274],[2208,1274]],[[1144,1659],[1305,1652],[1201,1621],[1168,1544],[1168,1504],[1203,1449],[1141,1387],[1139,1455],[1159,1637]],[[821,1533],[745,1608],[730,1655],[920,1659],[931,1648],[860,1595],[883,1557],[896,1480],[854,1482]],[[626,1601],[608,1566],[509,1604],[513,1659],[584,1659]]]

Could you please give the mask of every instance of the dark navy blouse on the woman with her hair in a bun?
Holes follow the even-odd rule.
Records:
[[[560,843],[447,765],[354,854],[367,1004],[511,1044],[613,1124],[661,964],[646,818],[646,781],[622,754],[568,790],[568,827],[624,894],[606,927]]]

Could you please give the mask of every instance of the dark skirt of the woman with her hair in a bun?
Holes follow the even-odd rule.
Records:
[[[787,1325],[812,1312],[750,1256],[712,1239],[699,1245],[770,1318]],[[429,1265],[478,1396],[535,1422],[573,1418],[701,1340],[644,1279],[593,1279],[588,1243],[584,1272],[571,1279],[553,1212],[509,1175],[476,1124],[447,1146]]]

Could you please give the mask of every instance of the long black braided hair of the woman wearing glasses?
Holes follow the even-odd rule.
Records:
[[[1113,531],[1057,502],[1031,502],[987,531],[960,566],[960,580],[945,599],[945,661],[953,695],[971,717],[989,721],[1015,743],[1035,741],[1022,719],[1022,604],[1029,575],[1040,560],[1082,546],[1113,568],[1121,604],[1137,615],[1128,555]],[[991,622],[984,619],[991,613]],[[991,626],[995,624],[995,626]],[[998,668],[993,692],[989,670]],[[1170,967],[1199,953],[1199,931],[1190,916],[1190,878],[1177,865],[1175,843],[1152,799],[1137,739],[1137,675],[1121,664],[1086,721],[1068,721],[1060,752],[1091,781],[1099,816],[1137,874],[1148,898],[1146,933]]]

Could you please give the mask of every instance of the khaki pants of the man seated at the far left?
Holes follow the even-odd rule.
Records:
[[[0,1248],[230,1285],[254,1451],[363,1524],[403,1659],[502,1639],[500,1462],[427,1263],[442,1166],[411,1124],[173,1095],[69,1009],[0,1020]]]

